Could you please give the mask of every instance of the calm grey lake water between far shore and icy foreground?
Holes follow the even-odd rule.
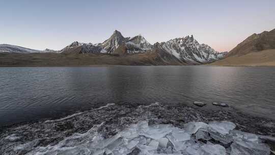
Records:
[[[0,88],[0,125],[62,117],[110,102],[225,101],[275,118],[271,67],[3,67]]]

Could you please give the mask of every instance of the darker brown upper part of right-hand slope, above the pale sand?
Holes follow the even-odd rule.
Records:
[[[265,49],[275,49],[275,29],[260,34],[254,33],[233,48],[226,57],[242,56]]]

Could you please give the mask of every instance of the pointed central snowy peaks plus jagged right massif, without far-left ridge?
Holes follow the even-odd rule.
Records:
[[[125,38],[117,30],[103,43],[85,44],[76,41],[66,46],[61,51],[64,53],[71,53],[72,49],[75,49],[75,53],[113,54],[119,46],[125,46],[127,54],[146,53],[148,51],[153,51],[153,49],[161,49],[157,51],[164,51],[176,57],[179,61],[188,64],[213,62],[222,59],[226,54],[218,53],[206,44],[200,44],[196,39],[194,39],[193,35],[151,45],[141,35]]]

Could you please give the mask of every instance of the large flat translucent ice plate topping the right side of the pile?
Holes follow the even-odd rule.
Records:
[[[229,131],[233,130],[236,125],[228,121],[213,121],[208,124],[208,128],[214,132],[220,133],[222,135],[229,134]]]

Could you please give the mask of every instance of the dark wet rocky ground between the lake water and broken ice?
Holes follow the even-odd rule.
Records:
[[[232,107],[223,108],[213,106],[213,110],[183,105],[151,104],[149,106],[139,104],[121,103],[101,109],[94,109],[79,113],[74,117],[63,120],[40,121],[33,123],[15,124],[2,127],[0,130],[0,152],[3,154],[25,154],[33,147],[24,151],[14,151],[13,148],[26,142],[35,141],[34,146],[47,146],[57,144],[65,137],[74,133],[85,133],[94,124],[104,122],[98,132],[108,138],[123,130],[130,124],[141,120],[148,120],[150,124],[167,124],[183,127],[190,121],[203,121],[208,123],[213,120],[226,120],[236,124],[236,129],[244,132],[275,136],[275,124],[273,120],[253,117],[240,113]],[[16,134],[20,138],[10,141],[7,136]],[[272,150],[274,144],[269,142]]]

